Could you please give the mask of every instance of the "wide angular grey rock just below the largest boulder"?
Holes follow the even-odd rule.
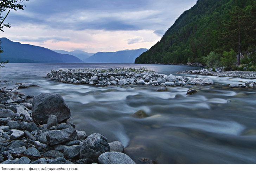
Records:
[[[57,145],[67,141],[76,140],[76,130],[72,128],[63,130],[52,130],[46,134],[47,142],[50,145]]]

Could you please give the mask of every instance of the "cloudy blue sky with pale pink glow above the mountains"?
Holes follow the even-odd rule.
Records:
[[[1,37],[88,53],[151,48],[197,0],[29,0]]]

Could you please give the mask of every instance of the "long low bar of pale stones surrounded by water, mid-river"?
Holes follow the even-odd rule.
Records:
[[[49,80],[70,84],[185,86],[213,84],[210,79],[158,74],[147,69],[58,69],[46,75]]]

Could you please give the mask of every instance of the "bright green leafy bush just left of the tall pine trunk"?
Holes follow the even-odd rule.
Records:
[[[232,65],[236,62],[236,53],[233,49],[231,49],[229,52],[224,51],[223,57],[220,58],[221,63],[226,67],[226,70],[231,71]]]

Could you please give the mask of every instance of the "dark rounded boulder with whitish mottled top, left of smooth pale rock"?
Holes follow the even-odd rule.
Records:
[[[89,163],[97,162],[98,157],[107,151],[110,151],[107,138],[99,133],[93,133],[83,142],[80,158],[87,159]]]

